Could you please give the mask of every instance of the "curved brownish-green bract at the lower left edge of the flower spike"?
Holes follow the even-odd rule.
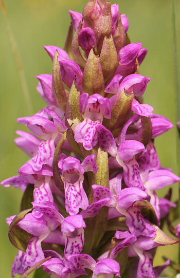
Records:
[[[24,216],[31,212],[32,209],[21,211],[19,214],[17,214],[14,219],[12,220],[10,226],[9,226],[9,240],[12,243],[13,246],[15,246],[17,249],[26,252],[27,244],[29,242],[29,239],[31,237],[31,234],[27,233],[23,229],[21,229],[17,224],[19,221],[24,219]]]

